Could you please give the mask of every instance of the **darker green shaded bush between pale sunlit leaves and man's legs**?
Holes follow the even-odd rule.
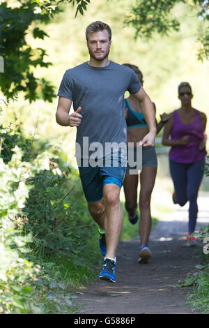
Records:
[[[91,226],[92,220],[90,216],[84,219],[84,213],[81,214],[78,210],[79,204],[75,207],[75,198],[79,196],[84,202],[84,196],[74,185],[74,174],[70,170],[61,172],[52,161],[50,167],[51,170],[37,172],[26,182],[32,188],[24,207],[24,215],[29,217],[24,228],[36,235],[34,247],[38,252],[69,256],[91,239],[92,231],[88,234],[81,229],[77,234],[75,228],[81,225]],[[66,179],[69,180],[67,186]]]

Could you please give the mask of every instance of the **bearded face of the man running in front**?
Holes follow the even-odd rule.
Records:
[[[103,61],[109,54],[111,41],[107,30],[88,33],[87,47],[90,57],[96,61]]]

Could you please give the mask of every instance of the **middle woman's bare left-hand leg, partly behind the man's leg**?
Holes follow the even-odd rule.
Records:
[[[123,190],[125,194],[125,209],[127,210],[130,218],[134,218],[137,208],[137,187],[138,187],[138,174],[125,174],[123,181]]]

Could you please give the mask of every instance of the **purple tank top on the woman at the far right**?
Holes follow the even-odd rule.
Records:
[[[181,139],[183,136],[189,135],[189,142],[183,146],[171,147],[169,151],[171,161],[194,163],[203,159],[207,154],[206,150],[199,150],[199,146],[203,141],[203,130],[198,110],[194,110],[194,121],[192,124],[183,124],[178,116],[178,111],[174,110],[171,139]]]

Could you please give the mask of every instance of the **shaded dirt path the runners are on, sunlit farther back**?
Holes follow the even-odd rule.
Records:
[[[209,223],[206,197],[208,193],[199,198],[201,211],[196,230]],[[148,264],[137,262],[139,238],[121,242],[117,253],[116,284],[98,279],[82,288],[82,294],[77,294],[76,300],[82,306],[79,313],[192,313],[185,302],[189,288],[175,286],[189,272],[196,271],[203,244],[185,246],[186,233],[187,207],[177,207],[175,213],[159,221],[151,232],[149,246],[153,257]]]

